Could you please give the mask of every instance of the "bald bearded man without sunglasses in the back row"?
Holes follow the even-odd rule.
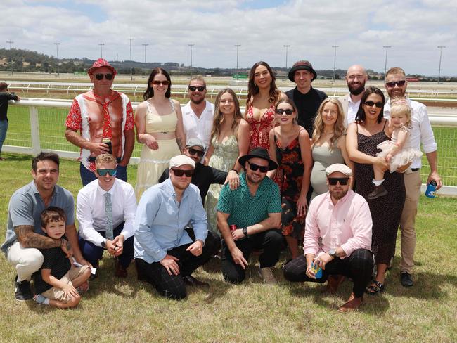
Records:
[[[361,65],[352,65],[347,70],[346,83],[349,93],[338,98],[345,112],[345,127],[348,127],[356,118],[367,80],[368,75]]]

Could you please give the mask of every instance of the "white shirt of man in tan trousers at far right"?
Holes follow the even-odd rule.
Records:
[[[427,115],[427,106],[423,103],[418,103],[410,98],[406,98],[409,106],[411,107],[411,148],[420,150],[420,144],[424,153],[433,153],[437,150],[437,142],[433,134],[432,125]],[[384,105],[384,117],[390,118],[390,99],[387,98]],[[420,168],[422,162],[420,157],[417,157],[411,163],[411,169]]]

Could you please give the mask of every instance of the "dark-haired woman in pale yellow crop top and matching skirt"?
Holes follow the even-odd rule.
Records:
[[[136,108],[136,139],[143,143],[138,174],[136,200],[157,183],[169,160],[180,155],[186,144],[181,105],[170,99],[172,80],[166,70],[155,68],[149,75],[145,101]]]

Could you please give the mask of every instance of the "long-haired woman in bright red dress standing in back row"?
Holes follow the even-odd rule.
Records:
[[[274,127],[274,106],[283,96],[275,80],[273,70],[263,61],[255,63],[249,72],[245,110],[245,119],[250,124],[249,150],[259,147],[269,150],[269,132]]]

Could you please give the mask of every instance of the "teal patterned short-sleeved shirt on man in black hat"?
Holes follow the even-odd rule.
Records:
[[[217,210],[228,216],[228,225],[244,228],[268,218],[269,213],[281,213],[281,196],[278,185],[268,177],[262,180],[255,196],[247,188],[246,174],[240,175],[240,186],[230,190],[226,184],[219,196]]]

